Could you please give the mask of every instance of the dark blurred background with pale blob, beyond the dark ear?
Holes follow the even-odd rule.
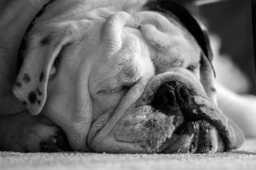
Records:
[[[252,2],[184,1],[210,32],[217,81],[239,94],[256,94]]]

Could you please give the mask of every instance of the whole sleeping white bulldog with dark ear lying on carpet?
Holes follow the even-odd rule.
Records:
[[[216,103],[205,29],[182,5],[0,6],[3,150],[214,153],[243,144]]]

